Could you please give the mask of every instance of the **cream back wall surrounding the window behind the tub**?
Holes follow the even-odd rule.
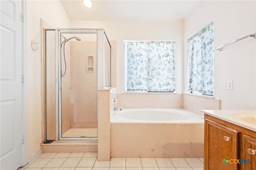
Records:
[[[183,93],[183,22],[137,22],[137,21],[71,21],[74,28],[104,28],[110,41],[117,42],[116,51],[116,87],[118,87],[118,107],[139,107],[139,102],[144,107],[182,107]],[[123,94],[123,42],[124,40],[173,40],[175,41],[175,71],[176,71],[176,92],[174,94]],[[113,86],[112,86],[113,87]],[[127,97],[128,96],[128,97]],[[157,96],[157,97],[156,97]],[[155,98],[156,97],[156,98]],[[170,99],[170,100],[166,100]],[[144,105],[148,103],[148,105]],[[156,103],[160,105],[156,105]]]

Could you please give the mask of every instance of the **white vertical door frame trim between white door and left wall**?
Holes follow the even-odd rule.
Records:
[[[22,167],[28,164],[28,138],[27,138],[27,0],[22,0]]]

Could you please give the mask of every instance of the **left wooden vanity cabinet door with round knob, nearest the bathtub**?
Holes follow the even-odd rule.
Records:
[[[209,119],[204,128],[204,170],[237,170],[239,131]]]

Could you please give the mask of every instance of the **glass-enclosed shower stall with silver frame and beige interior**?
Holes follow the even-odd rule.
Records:
[[[44,29],[44,138],[98,139],[98,89],[111,87],[104,29]]]

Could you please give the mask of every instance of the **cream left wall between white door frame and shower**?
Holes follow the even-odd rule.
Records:
[[[27,1],[27,134],[28,158],[40,150],[41,144],[41,55],[40,49],[33,51],[31,41],[40,42],[40,18],[52,27],[70,27],[70,20],[60,1],[28,0]]]

